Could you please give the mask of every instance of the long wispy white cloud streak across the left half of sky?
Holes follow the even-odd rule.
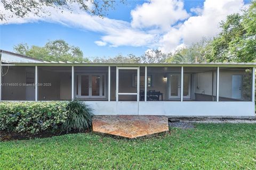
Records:
[[[3,7],[1,7],[1,9],[2,8]],[[155,38],[153,34],[131,28],[131,24],[126,21],[99,18],[98,16],[91,16],[83,11],[77,11],[77,9],[72,13],[68,10],[59,12],[52,7],[44,7],[44,9],[49,11],[51,15],[49,16],[42,13],[42,17],[38,17],[33,14],[29,14],[26,18],[10,18],[8,24],[46,21],[57,22],[67,25],[68,27],[100,32],[103,34],[101,40],[94,42],[98,46],[106,46],[107,44],[111,47],[147,46],[153,43]],[[11,16],[11,13],[6,11],[6,15]]]

